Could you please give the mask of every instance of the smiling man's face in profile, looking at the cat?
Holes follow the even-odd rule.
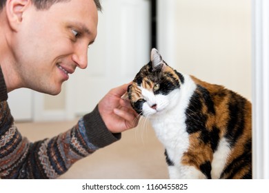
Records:
[[[55,3],[49,10],[31,5],[12,40],[17,72],[24,87],[59,94],[75,68],[87,67],[88,45],[97,36],[93,0]]]

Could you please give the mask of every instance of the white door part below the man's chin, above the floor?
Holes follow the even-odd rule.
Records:
[[[8,105],[15,121],[32,120],[33,92],[27,88],[20,88],[8,93]]]

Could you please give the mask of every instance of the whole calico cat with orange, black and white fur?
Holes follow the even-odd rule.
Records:
[[[127,94],[163,143],[170,179],[252,178],[250,101],[177,72],[155,48]]]

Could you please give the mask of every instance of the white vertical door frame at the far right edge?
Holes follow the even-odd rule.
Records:
[[[269,1],[252,0],[252,166],[269,179]]]

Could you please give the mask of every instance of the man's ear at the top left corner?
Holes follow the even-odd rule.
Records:
[[[23,12],[32,3],[31,0],[7,0],[6,15],[12,30],[17,30],[19,23],[23,20]]]

